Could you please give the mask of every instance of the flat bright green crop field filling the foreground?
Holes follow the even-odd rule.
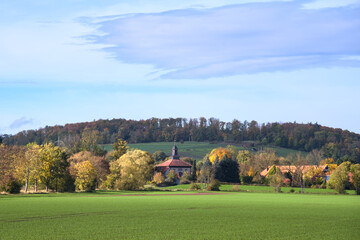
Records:
[[[0,196],[1,239],[359,239],[354,195],[106,192]]]

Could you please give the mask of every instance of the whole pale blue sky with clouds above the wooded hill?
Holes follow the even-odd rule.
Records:
[[[13,0],[0,13],[0,135],[151,117],[360,133],[360,0]]]

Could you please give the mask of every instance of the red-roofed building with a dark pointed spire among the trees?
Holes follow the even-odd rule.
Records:
[[[178,154],[178,148],[174,144],[170,159],[156,165],[155,169],[156,171],[163,173],[164,177],[166,177],[171,170],[174,170],[175,173],[180,178],[185,172],[187,172],[190,175],[191,167],[192,165],[190,163],[180,160],[180,156]]]

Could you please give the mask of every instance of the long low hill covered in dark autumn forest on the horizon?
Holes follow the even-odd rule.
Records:
[[[360,135],[319,124],[267,123],[256,121],[223,122],[216,118],[151,118],[147,120],[98,120],[93,122],[46,126],[38,130],[22,131],[16,135],[2,135],[0,141],[9,145],[29,142],[72,142],[84,132],[91,131],[99,144],[113,143],[122,138],[129,143],[166,141],[210,141],[241,143],[255,141],[296,150],[322,149],[326,157],[335,160],[360,162]]]

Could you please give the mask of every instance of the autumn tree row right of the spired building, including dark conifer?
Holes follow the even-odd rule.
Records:
[[[352,188],[360,194],[360,164],[343,162],[338,167],[332,158],[324,158],[319,151],[313,151],[307,156],[299,153],[284,158],[276,156],[271,150],[251,154],[247,150],[237,152],[233,146],[228,146],[214,149],[198,164],[198,180],[206,185],[218,180],[242,184],[270,184],[276,191],[279,191],[281,186],[302,189],[313,186],[334,188],[339,193]],[[278,166],[285,166],[288,170],[284,173]],[[264,169],[268,169],[266,176],[261,175]],[[328,185],[326,175],[331,175]]]

